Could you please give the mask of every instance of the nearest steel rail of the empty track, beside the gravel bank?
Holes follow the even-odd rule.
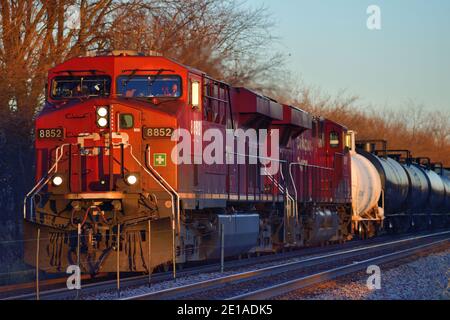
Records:
[[[292,291],[304,289],[319,283],[323,283],[329,280],[336,279],[357,271],[361,271],[373,264],[383,264],[391,262],[393,260],[402,259],[425,249],[442,245],[449,242],[450,239],[438,240],[432,243],[416,246],[400,250],[398,252],[388,253],[381,256],[373,257],[363,261],[357,261],[352,264],[347,264],[341,267],[333,268],[327,271],[319,272],[310,276],[298,278],[295,280],[287,281],[281,284],[276,284],[267,288],[256,290],[253,292],[245,293],[242,295],[234,296],[226,300],[268,300],[274,297],[279,297]]]

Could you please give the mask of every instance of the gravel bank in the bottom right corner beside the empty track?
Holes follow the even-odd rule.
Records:
[[[417,257],[411,258],[417,259]],[[282,300],[450,300],[450,249],[381,268],[381,289],[371,291],[365,272],[311,289],[291,292]]]

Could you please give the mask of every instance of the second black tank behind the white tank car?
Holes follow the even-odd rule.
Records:
[[[424,169],[415,164],[403,164],[409,179],[409,195],[405,209],[410,213],[424,213],[428,206],[430,184]]]

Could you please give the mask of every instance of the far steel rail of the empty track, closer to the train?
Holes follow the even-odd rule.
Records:
[[[205,280],[193,284],[178,286],[174,288],[164,289],[160,291],[145,293],[133,297],[123,298],[121,300],[163,300],[163,299],[176,299],[183,296],[194,295],[196,293],[216,289],[222,287],[225,284],[236,284],[245,281],[254,281],[260,278],[265,278],[281,273],[285,273],[291,270],[298,270],[299,268],[311,267],[319,264],[324,264],[328,262],[335,261],[336,258],[351,258],[353,256],[358,256],[362,253],[368,253],[374,249],[381,249],[384,247],[394,246],[398,244],[403,244],[407,242],[423,240],[431,237],[438,236],[449,236],[450,232],[439,232],[435,234],[429,234],[424,236],[416,236],[402,240],[391,241],[387,243],[381,243],[377,245],[369,245],[362,248],[356,248],[351,250],[344,250],[340,252],[335,252],[331,254],[325,254],[321,256],[316,256],[312,258],[306,258],[299,261],[289,262],[285,264],[280,264],[276,266],[255,269],[251,271],[241,272],[232,274],[229,276],[223,276],[219,278],[214,278],[210,280]],[[445,240],[447,241],[447,239]]]

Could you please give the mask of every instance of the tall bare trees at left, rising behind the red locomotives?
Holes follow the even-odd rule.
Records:
[[[264,89],[282,65],[264,7],[238,0],[0,2],[0,234],[18,234],[34,177],[33,120],[48,69],[109,50],[158,52],[235,85]],[[0,236],[0,240],[1,240]]]

